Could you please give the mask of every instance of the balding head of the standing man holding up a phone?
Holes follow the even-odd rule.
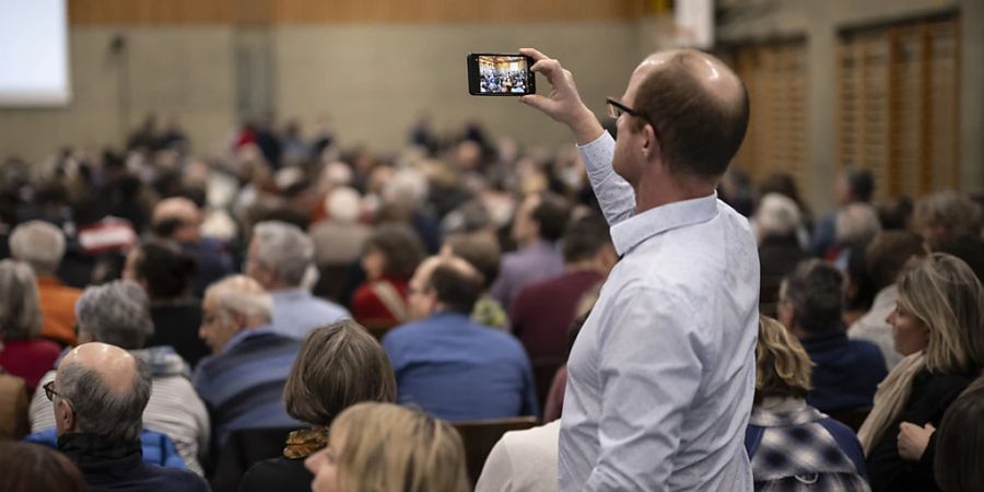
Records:
[[[728,168],[748,128],[745,84],[721,60],[692,49],[649,55],[632,73],[628,103],[654,126],[675,174],[715,179]]]

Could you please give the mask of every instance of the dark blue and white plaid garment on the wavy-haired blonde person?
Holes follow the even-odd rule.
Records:
[[[857,438],[799,399],[755,406],[746,448],[755,491],[871,490]]]

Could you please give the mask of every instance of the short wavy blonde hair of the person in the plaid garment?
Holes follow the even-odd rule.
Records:
[[[782,323],[759,316],[755,347],[755,402],[769,397],[806,398],[810,387],[810,356]]]

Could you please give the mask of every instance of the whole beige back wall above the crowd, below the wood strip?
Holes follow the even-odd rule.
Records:
[[[75,27],[70,35],[71,105],[0,108],[0,155],[39,160],[62,143],[121,143],[125,129],[148,112],[178,115],[196,152],[207,152],[237,121],[241,85],[258,84],[269,85],[278,115],[301,117],[307,129],[320,115],[331,115],[343,144],[397,149],[422,110],[438,129],[477,119],[493,136],[565,142],[570,137],[560,125],[515,98],[469,96],[466,54],[539,47],[577,74],[585,101],[602,114],[605,97],[621,94],[640,54],[654,48],[637,42],[640,28],[636,22],[620,21]],[[127,39],[128,67],[109,54],[116,33]],[[237,81],[237,48],[256,49],[265,39],[270,70],[249,77],[267,79]],[[129,90],[121,90],[121,73],[129,78]]]

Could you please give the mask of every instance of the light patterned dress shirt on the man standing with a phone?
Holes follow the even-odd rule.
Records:
[[[759,259],[716,195],[634,215],[607,132],[581,148],[621,261],[577,337],[560,490],[751,491]]]

